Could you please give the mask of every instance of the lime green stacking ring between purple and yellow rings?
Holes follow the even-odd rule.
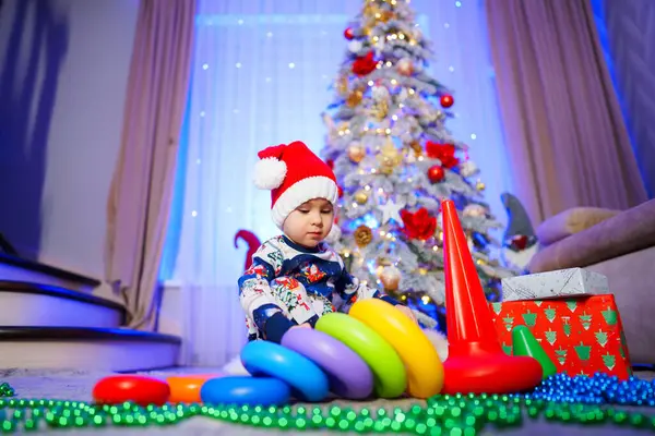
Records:
[[[315,329],[323,331],[355,351],[373,373],[374,391],[380,398],[396,398],[407,387],[403,361],[380,335],[364,323],[343,313],[319,318]]]

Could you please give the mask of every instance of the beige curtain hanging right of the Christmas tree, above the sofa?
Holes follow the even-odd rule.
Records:
[[[587,0],[487,0],[516,196],[535,223],[646,199]]]

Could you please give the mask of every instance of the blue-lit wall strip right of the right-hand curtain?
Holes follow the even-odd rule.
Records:
[[[642,179],[655,197],[655,2],[592,0]]]

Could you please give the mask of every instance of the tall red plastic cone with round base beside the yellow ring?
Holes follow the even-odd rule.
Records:
[[[485,291],[450,199],[441,203],[448,359],[443,393],[511,393],[541,382],[541,365],[507,355],[500,347]]]

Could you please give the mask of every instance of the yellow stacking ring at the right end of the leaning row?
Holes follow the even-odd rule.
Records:
[[[407,371],[407,393],[429,398],[443,388],[443,364],[428,337],[407,315],[380,299],[359,300],[348,314],[366,324],[401,356]]]

